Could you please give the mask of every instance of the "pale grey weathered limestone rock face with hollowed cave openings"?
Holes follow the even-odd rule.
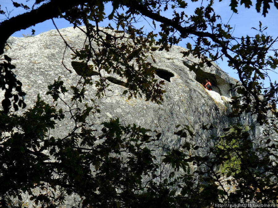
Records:
[[[70,47],[82,48],[86,37],[79,29],[69,27],[61,29],[60,32]],[[56,30],[28,38],[11,37],[8,41],[11,49],[8,49],[5,54],[13,59],[12,64],[16,66],[14,73],[22,82],[23,91],[27,93],[25,96],[27,108],[34,104],[37,94],[40,94],[42,99],[51,102],[52,98],[46,96],[45,92],[48,90],[47,86],[53,84],[53,80],[57,80],[59,76],[67,87],[75,85],[80,79],[80,75],[73,69],[72,51],[69,47],[65,47],[63,39]],[[231,111],[229,100],[232,96],[229,92],[229,84],[235,84],[236,80],[214,65],[204,68],[200,73],[189,71],[186,66],[188,62],[198,60],[194,57],[183,58],[180,52],[184,50],[186,49],[173,46],[168,52],[155,51],[153,53],[156,60],[154,65],[159,69],[156,75],[158,81],[161,79],[165,81],[166,93],[162,104],[145,101],[144,98],[128,100],[127,96],[122,95],[126,88],[123,84],[115,82],[118,78],[114,77],[113,81],[113,75],[107,75],[111,80],[106,91],[107,97],[96,101],[101,112],[91,116],[89,123],[99,125],[101,128],[102,122],[119,117],[123,124],[135,123],[161,132],[162,144],[172,148],[179,147],[183,142],[173,134],[177,130],[175,126],[186,124],[197,135],[192,143],[204,147],[200,155],[206,155],[208,151],[206,147],[213,145],[213,141],[209,139],[213,136],[212,134],[221,135],[222,128],[229,127],[231,123],[255,125],[255,119],[248,115],[243,115],[237,120],[228,117]],[[213,91],[206,90],[200,84],[205,82],[207,77],[211,80]],[[97,80],[98,77],[92,76],[92,79]],[[94,95],[93,85],[88,87],[86,92],[88,102],[90,98],[94,98]],[[3,94],[0,96],[2,99]],[[64,100],[70,103],[70,97],[69,91],[65,93]],[[61,102],[58,107],[66,108]],[[213,132],[201,130],[203,125],[211,123],[218,127],[217,130]],[[56,129],[51,134],[62,137],[72,125],[70,120],[63,120],[57,123]],[[260,133],[261,130],[255,128],[254,138]]]

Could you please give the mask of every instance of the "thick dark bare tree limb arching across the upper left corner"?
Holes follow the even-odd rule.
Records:
[[[26,29],[45,20],[59,17],[65,11],[86,2],[87,0],[51,0],[35,10],[1,22],[0,54],[4,52],[6,41],[14,32]]]

